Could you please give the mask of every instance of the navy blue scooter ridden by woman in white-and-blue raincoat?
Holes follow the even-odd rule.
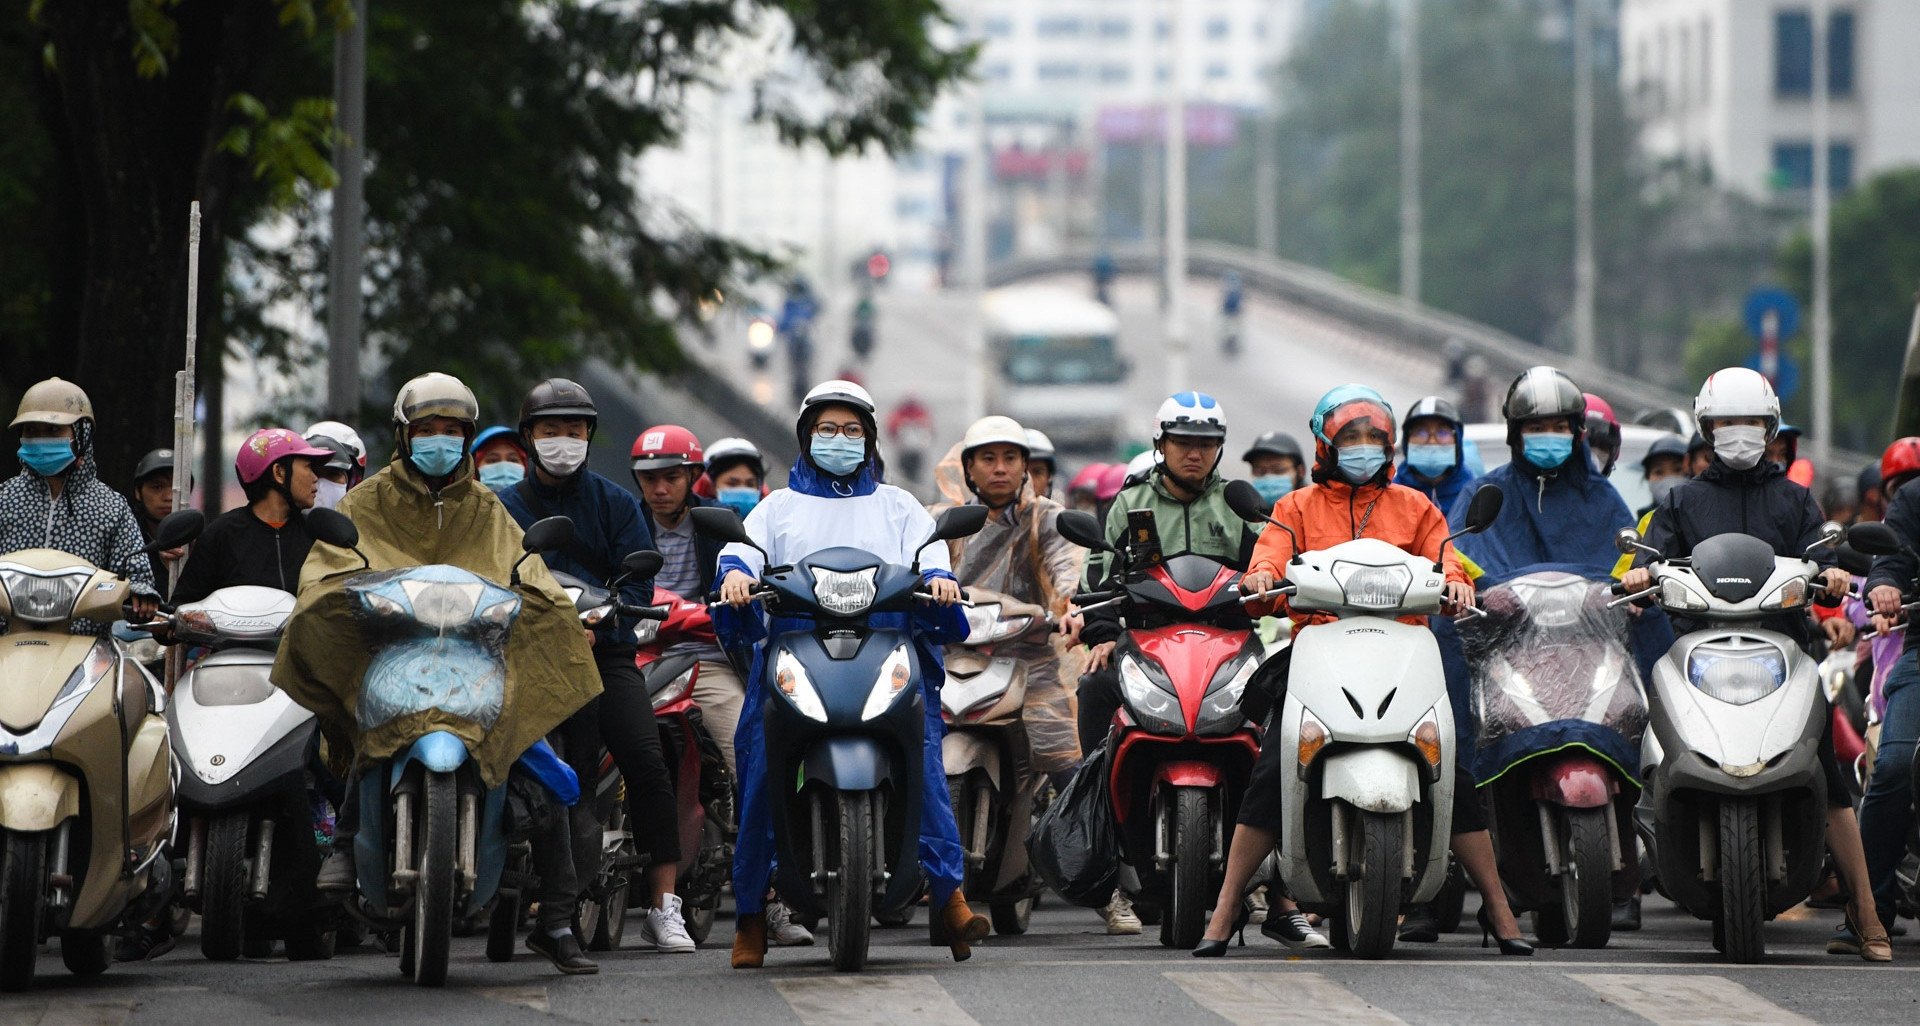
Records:
[[[732,509],[691,517],[703,538],[755,546]],[[983,505],[947,509],[920,550],[985,523]],[[918,561],[897,567],[829,548],[768,567],[755,598],[776,617],[812,623],[766,642],[772,688],[755,711],[766,719],[766,778],[780,782],[770,795],[776,890],[803,916],[826,915],[833,968],[856,970],[874,915],[920,899],[920,803],[931,784],[922,780],[925,707],[912,632],[876,619],[912,615],[931,596]]]

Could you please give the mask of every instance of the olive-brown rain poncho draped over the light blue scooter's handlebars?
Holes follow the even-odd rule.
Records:
[[[405,459],[394,459],[340,501],[359,526],[359,550],[372,571],[445,563],[501,588],[520,557],[520,525],[480,486],[472,457],[451,484],[428,492]],[[286,624],[273,682],[313,709],[334,745],[382,759],[430,730],[467,742],[480,776],[493,788],[522,751],[599,694],[599,672],[574,605],[540,555],[520,565],[520,615],[507,638],[507,696],[492,730],[445,711],[403,715],[359,734],[361,678],[378,638],[363,636],[346,584],[361,573],[353,551],[315,544],[300,573],[300,603]]]

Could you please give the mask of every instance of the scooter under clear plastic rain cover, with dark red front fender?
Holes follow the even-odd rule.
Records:
[[[1461,626],[1500,878],[1551,945],[1605,947],[1613,903],[1640,886],[1647,696],[1626,615],[1607,607],[1607,592],[1601,580],[1536,571],[1484,590],[1488,615]]]

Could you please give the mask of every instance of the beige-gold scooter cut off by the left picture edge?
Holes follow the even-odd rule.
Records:
[[[202,526],[198,509],[171,513],[142,551]],[[50,936],[75,976],[106,972],[111,934],[173,890],[165,692],[121,642],[67,632],[119,619],[127,594],[65,551],[0,555],[0,989],[33,986]]]

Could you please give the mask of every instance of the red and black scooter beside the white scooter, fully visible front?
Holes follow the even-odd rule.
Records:
[[[1258,501],[1258,498],[1256,498]],[[1117,588],[1073,596],[1081,611],[1117,605],[1131,626],[1114,649],[1121,707],[1112,745],[1114,822],[1121,863],[1146,915],[1160,913],[1160,943],[1192,947],[1219,893],[1227,838],[1260,755],[1260,730],[1240,696],[1263,659],[1260,638],[1236,621],[1254,596],[1240,573],[1204,555],[1156,561],[1158,540],[1114,548],[1085,515],[1060,515],[1060,534],[1110,551]]]

